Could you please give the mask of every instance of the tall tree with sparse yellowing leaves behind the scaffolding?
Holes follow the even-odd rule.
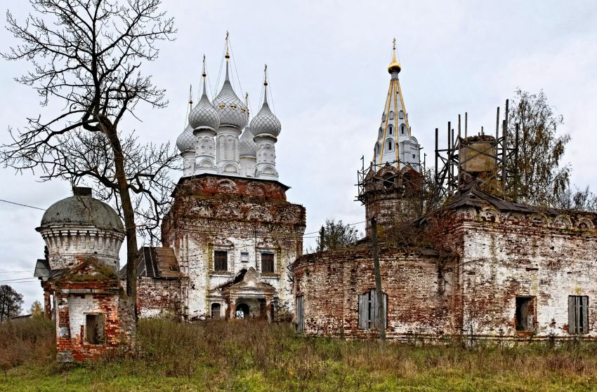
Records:
[[[509,141],[515,142],[519,124],[518,168],[509,160],[509,172],[518,173],[509,194],[526,203],[553,205],[556,195],[570,184],[570,165],[560,165],[570,135],[558,133],[563,117],[554,113],[543,90],[537,94],[516,90],[509,118]],[[518,170],[515,170],[518,169]]]

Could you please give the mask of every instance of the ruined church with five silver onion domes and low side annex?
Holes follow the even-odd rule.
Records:
[[[141,317],[270,319],[276,306],[294,306],[287,266],[302,254],[305,208],[289,203],[289,187],[278,181],[282,127],[268,104],[267,73],[248,126],[229,61],[227,49],[213,104],[204,66],[202,96],[176,141],[183,175],[162,224],[163,246],[143,248],[138,261]]]

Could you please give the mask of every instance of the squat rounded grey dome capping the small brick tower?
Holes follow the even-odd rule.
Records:
[[[91,188],[74,187],[74,196],[53,203],[41,218],[39,229],[57,226],[93,226],[124,234],[122,220],[114,208],[91,197]]]

